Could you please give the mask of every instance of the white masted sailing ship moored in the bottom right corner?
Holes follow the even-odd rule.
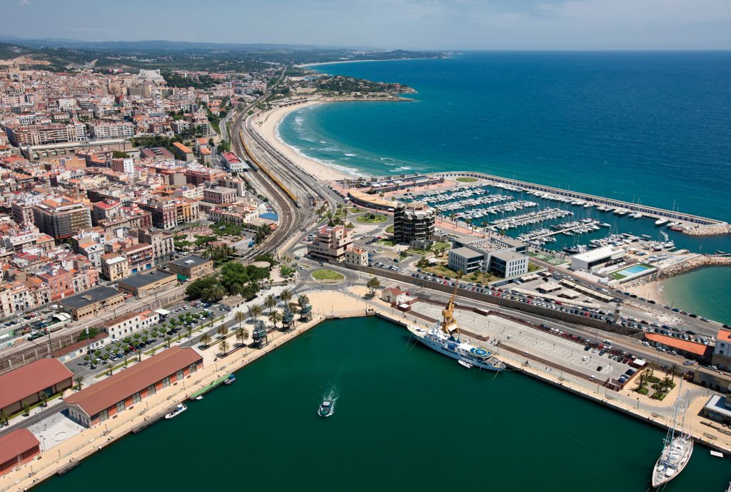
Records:
[[[683,381],[681,380],[681,386]],[[680,388],[678,388],[678,391]],[[682,394],[682,393],[681,393]],[[673,425],[667,429],[667,436],[664,439],[662,453],[655,463],[652,470],[652,486],[658,488],[661,485],[670,482],[677,477],[686,467],[693,454],[693,439],[683,430],[685,423],[685,412],[688,408],[688,392],[686,391],[683,398],[678,397],[675,402],[675,412],[673,413]],[[678,412],[681,412],[681,428],[676,434],[675,426],[678,423]]]

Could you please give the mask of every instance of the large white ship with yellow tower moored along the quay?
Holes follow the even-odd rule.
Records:
[[[460,340],[459,327],[454,317],[455,299],[457,298],[457,287],[460,277],[461,273],[458,274],[457,281],[455,281],[455,289],[452,292],[452,297],[447,302],[447,306],[442,309],[441,326],[436,325],[431,330],[414,326],[409,327],[409,330],[418,341],[430,349],[462,362],[465,367],[471,365],[481,369],[487,369],[488,371],[502,371],[505,368],[505,364],[492,355],[489,350],[483,349],[482,347],[474,347]],[[455,334],[457,335],[456,338]]]

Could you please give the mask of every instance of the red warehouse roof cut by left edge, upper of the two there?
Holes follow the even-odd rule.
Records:
[[[41,359],[0,374],[0,408],[37,395],[74,374],[58,359]]]

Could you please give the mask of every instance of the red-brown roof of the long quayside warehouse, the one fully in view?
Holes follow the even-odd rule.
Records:
[[[64,401],[79,405],[90,417],[94,417],[102,410],[202,360],[203,357],[192,348],[171,347],[64,398]]]

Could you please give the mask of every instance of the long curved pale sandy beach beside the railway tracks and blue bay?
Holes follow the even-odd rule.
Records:
[[[282,142],[279,137],[277,137],[276,129],[284,116],[287,116],[287,114],[292,111],[300,110],[303,107],[310,107],[319,104],[325,104],[325,102],[310,101],[303,102],[298,105],[279,107],[256,116],[252,126],[273,148],[276,148],[281,152],[281,154],[287,156],[287,159],[294,162],[298,165],[298,167],[306,171],[306,173],[311,174],[320,181],[352,178],[354,176],[352,174],[346,174],[341,170],[328,166],[327,164],[322,164],[322,162],[317,162],[314,159],[309,159],[308,157],[299,154],[294,148]]]

